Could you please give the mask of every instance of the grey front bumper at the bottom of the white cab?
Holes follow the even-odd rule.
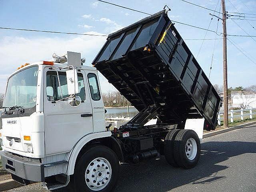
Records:
[[[1,156],[3,168],[11,174],[29,181],[44,181],[44,165],[39,159],[16,156],[6,151]]]

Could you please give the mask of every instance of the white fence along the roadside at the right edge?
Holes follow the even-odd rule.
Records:
[[[234,118],[240,117],[241,120],[244,120],[244,117],[250,116],[250,119],[252,119],[252,115],[256,114],[256,112],[252,112],[253,110],[256,110],[256,108],[246,108],[246,109],[238,109],[238,110],[229,110],[228,111],[228,119],[230,119],[230,122],[234,122]],[[223,111],[220,111],[218,114],[218,125],[220,125],[220,121],[223,120]]]

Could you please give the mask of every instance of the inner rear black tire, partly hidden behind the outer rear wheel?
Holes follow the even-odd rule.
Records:
[[[174,141],[175,137],[178,134],[180,129],[174,129],[168,132],[164,139],[164,157],[166,161],[174,167],[178,167],[178,164],[176,163],[174,159]]]

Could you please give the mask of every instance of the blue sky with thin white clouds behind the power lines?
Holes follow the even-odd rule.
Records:
[[[109,0],[130,8],[148,13],[156,13],[167,4],[172,11],[168,16],[172,20],[208,28],[212,13],[180,0]],[[219,10],[218,0],[190,0],[195,4]],[[229,0],[239,12],[256,14],[255,0]],[[226,9],[229,12],[238,12],[226,0]],[[0,26],[10,28],[26,28],[36,30],[52,30],[62,32],[78,32],[91,34],[109,34],[128,26],[147,15],[118,8],[95,0],[0,0]],[[255,16],[256,17],[256,16]],[[249,23],[243,20],[234,20],[248,34],[256,35],[252,28],[256,22]],[[217,18],[213,18],[210,30],[216,30]],[[250,24],[252,26],[250,26]],[[206,32],[189,26],[176,23],[176,28],[184,39],[202,39]],[[219,32],[222,30],[219,22]],[[227,20],[228,34],[246,33],[231,19]],[[208,32],[206,38],[215,38],[215,34]],[[217,36],[221,38],[221,36]],[[242,47],[246,54],[256,61],[256,38],[230,37]],[[50,60],[52,54],[62,54],[66,51],[81,52],[86,58],[86,65],[92,60],[106,41],[106,37],[93,37],[67,34],[49,34],[43,32],[22,32],[0,29],[0,93],[4,92],[7,76],[18,66],[26,62]],[[185,40],[188,47],[208,75],[212,60],[214,40],[202,41]],[[200,52],[199,52],[200,50]],[[199,54],[198,54],[199,52]],[[222,40],[216,41],[214,60],[210,81],[212,84],[222,84]],[[103,92],[113,89],[107,80],[100,76]],[[256,64],[252,63],[239,50],[228,42],[228,86],[250,86],[256,84]]]

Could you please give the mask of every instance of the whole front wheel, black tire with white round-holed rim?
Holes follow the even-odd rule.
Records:
[[[76,163],[74,189],[76,192],[109,192],[116,185],[118,172],[115,152],[106,146],[92,146]]]

